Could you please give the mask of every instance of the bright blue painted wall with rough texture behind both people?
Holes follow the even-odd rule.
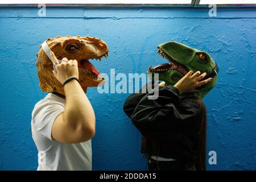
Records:
[[[208,151],[217,152],[209,170],[255,170],[255,9],[0,9],[0,169],[35,170],[37,151],[30,134],[31,111],[46,94],[35,61],[39,45],[57,35],[90,35],[109,45],[102,73],[144,73],[164,63],[156,46],[176,40],[203,49],[220,67],[218,84],[204,98]],[[122,111],[129,94],[88,90],[97,116],[93,169],[146,169],[141,137]]]

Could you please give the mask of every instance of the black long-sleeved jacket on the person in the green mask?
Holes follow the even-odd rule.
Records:
[[[131,94],[123,110],[147,143],[150,141],[158,148],[158,154],[154,154],[152,147],[147,146],[148,155],[195,163],[201,123],[199,104],[193,98],[181,99],[174,86],[159,87],[158,91],[156,100],[148,100],[152,93]]]

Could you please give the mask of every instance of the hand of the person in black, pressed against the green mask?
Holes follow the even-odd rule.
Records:
[[[182,77],[174,86],[181,93],[189,93],[189,92],[197,92],[199,90],[196,89],[197,86],[201,86],[207,84],[212,80],[212,78],[208,78],[207,80],[200,81],[203,79],[207,73],[203,73],[200,75],[200,71],[197,71],[192,75],[192,71],[189,71],[187,75]]]

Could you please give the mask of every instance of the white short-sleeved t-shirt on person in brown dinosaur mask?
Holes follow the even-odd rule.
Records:
[[[38,170],[92,170],[91,140],[64,144],[51,137],[55,118],[63,113],[65,100],[49,93],[32,111],[32,138],[38,148]]]

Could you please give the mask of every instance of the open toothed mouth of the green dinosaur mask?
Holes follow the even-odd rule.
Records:
[[[176,70],[180,72],[182,75],[186,75],[188,73],[187,68],[185,68],[183,65],[178,64],[175,60],[171,59],[171,57],[166,55],[166,53],[164,53],[162,49],[158,48],[158,51],[156,53],[158,53],[163,58],[167,59],[169,63],[159,64],[154,67],[150,66],[148,68],[147,73],[164,73],[170,70]]]

